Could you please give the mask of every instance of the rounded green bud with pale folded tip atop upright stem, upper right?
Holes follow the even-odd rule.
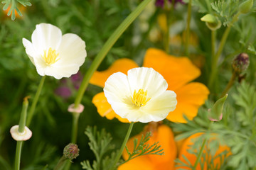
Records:
[[[209,13],[203,16],[201,21],[206,22],[206,26],[210,30],[217,30],[221,26],[221,22],[218,20],[218,18]]]

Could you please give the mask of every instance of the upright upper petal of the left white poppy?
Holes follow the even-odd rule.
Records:
[[[53,50],[58,49],[62,38],[61,30],[49,23],[40,23],[36,25],[36,30],[32,33],[33,47],[43,55],[43,50],[50,47]]]

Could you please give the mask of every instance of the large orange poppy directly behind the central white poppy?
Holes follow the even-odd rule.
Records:
[[[129,69],[139,67],[134,61],[129,59],[119,59],[112,66],[103,71],[95,72],[90,79],[90,84],[105,86],[105,81],[114,72],[127,74]],[[178,123],[186,123],[183,115],[192,120],[198,113],[198,108],[208,98],[210,93],[207,87],[198,82],[190,82],[200,76],[200,70],[192,64],[187,57],[174,57],[167,55],[164,51],[150,48],[146,51],[143,67],[152,67],[159,72],[168,83],[168,89],[174,91],[177,95],[178,104],[176,109],[169,113],[168,120]],[[120,118],[112,111],[112,108],[105,95],[102,93],[92,98],[92,103],[97,107],[98,113],[108,119],[118,118],[121,122],[129,122]]]

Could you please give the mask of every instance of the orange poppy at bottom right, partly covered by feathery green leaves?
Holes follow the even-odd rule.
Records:
[[[194,165],[196,163],[196,158],[197,158],[196,155],[191,154],[190,152],[188,152],[188,150],[190,150],[191,146],[194,145],[196,138],[200,137],[202,134],[203,133],[196,133],[194,135],[191,135],[191,137],[188,137],[183,142],[183,145],[181,146],[181,150],[178,154],[178,159],[180,159],[181,162],[186,163],[185,159],[183,158],[183,156],[185,156],[192,165]],[[203,170],[220,169],[220,167],[223,165],[224,159],[226,159],[231,154],[230,148],[228,146],[220,145],[220,143],[218,142],[219,147],[218,147],[218,149],[216,149],[215,155],[211,156],[209,153],[210,152],[209,149],[207,149],[207,146],[210,145],[210,142],[213,142],[213,141],[218,142],[218,138],[216,135],[211,134],[210,140],[208,140],[208,142],[206,142],[206,147],[205,147],[205,149],[203,149],[203,154],[205,154],[206,159],[207,159],[205,161],[205,163],[203,164]],[[226,152],[226,154],[221,154],[223,152]],[[201,160],[203,160],[203,157],[201,157]],[[188,163],[186,163],[186,164],[188,164]],[[191,169],[191,168],[188,168],[186,166],[177,166],[176,169]],[[196,166],[196,170],[201,170],[200,162]]]

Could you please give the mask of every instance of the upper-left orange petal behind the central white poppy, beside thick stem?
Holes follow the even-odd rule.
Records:
[[[108,77],[110,77],[115,72],[122,72],[127,74],[129,69],[138,67],[136,62],[133,60],[129,60],[127,58],[119,59],[115,61],[110,68],[102,72],[95,72],[90,79],[90,84],[94,84],[96,86],[104,87],[105,81]]]

